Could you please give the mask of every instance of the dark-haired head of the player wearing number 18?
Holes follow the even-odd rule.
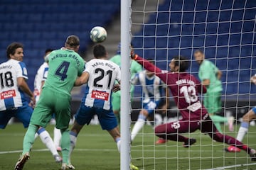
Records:
[[[13,42],[6,48],[8,59],[23,61],[23,45],[19,42]]]

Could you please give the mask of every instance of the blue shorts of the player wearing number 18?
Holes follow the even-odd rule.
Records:
[[[18,118],[23,123],[24,128],[28,128],[33,109],[27,104],[15,109],[0,111],[0,128],[6,128],[12,117]]]

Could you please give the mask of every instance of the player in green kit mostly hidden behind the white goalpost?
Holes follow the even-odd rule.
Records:
[[[132,45],[131,45],[132,47]],[[114,62],[115,64],[119,65],[119,67],[121,67],[121,45],[118,45],[118,50],[117,50],[117,55],[114,55],[112,58],[110,58],[110,61]],[[142,72],[142,66],[140,64],[138,64],[135,61],[132,61],[131,63],[131,68],[130,68],[130,72],[131,72],[131,79],[134,78],[136,73]],[[134,86],[131,85],[131,89],[130,89],[130,93],[131,93],[131,98],[133,96],[134,93]],[[120,120],[120,102],[121,101],[121,92],[117,91],[116,93],[112,93],[112,109],[114,112],[114,115],[117,116],[117,120]]]

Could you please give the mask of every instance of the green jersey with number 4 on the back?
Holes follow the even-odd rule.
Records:
[[[73,50],[54,50],[48,56],[49,70],[44,86],[70,95],[75,79],[85,69],[85,61]]]

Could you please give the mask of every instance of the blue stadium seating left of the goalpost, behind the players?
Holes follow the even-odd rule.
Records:
[[[46,48],[58,49],[63,46],[63,39],[75,34],[80,37],[80,49],[84,52],[90,44],[90,29],[110,23],[119,6],[119,1],[115,0],[3,0],[0,6],[0,62],[6,61],[7,45],[13,41],[22,42],[28,85],[33,89],[33,79]]]

